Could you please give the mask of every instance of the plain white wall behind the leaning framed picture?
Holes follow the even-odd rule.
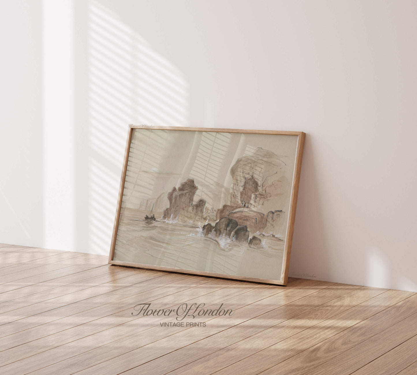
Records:
[[[417,291],[417,2],[0,6],[0,242],[108,253],[129,123],[303,130],[290,275]]]

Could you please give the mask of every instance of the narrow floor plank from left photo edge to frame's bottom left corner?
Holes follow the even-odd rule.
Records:
[[[29,285],[42,283],[44,281],[53,280],[67,275],[73,275],[74,273],[89,270],[90,268],[100,267],[107,264],[107,260],[101,255],[85,254],[80,257],[71,258],[75,265],[70,267],[61,268],[60,270],[41,273],[39,275],[30,276],[28,278],[22,278],[10,283],[0,285],[0,293],[5,293],[10,290],[24,288]],[[69,261],[69,260],[68,260]],[[83,262],[84,261],[84,262]]]

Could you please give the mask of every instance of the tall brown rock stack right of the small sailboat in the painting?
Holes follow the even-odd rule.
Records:
[[[206,201],[199,199],[193,204],[194,195],[198,186],[192,178],[181,183],[177,189],[175,186],[168,193],[169,208],[163,211],[163,219],[166,220],[194,220],[203,217]]]

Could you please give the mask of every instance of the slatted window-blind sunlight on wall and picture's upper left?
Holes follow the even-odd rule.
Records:
[[[121,18],[100,4],[88,5],[88,246],[108,253],[123,151],[129,123],[188,125],[188,84],[184,75]],[[141,133],[143,136],[148,136]],[[141,165],[158,170],[163,140],[149,140]],[[152,174],[142,183],[128,173],[132,194],[147,195]],[[151,179],[151,180],[149,180]],[[134,197],[131,197],[134,198]]]

